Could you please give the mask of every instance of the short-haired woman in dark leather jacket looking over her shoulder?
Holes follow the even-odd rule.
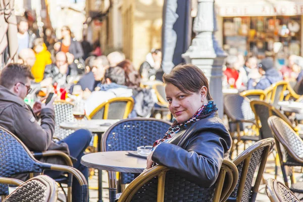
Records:
[[[164,165],[209,187],[216,182],[231,137],[217,115],[208,79],[194,65],[178,65],[163,81],[169,110],[176,120],[163,139],[154,143],[147,169]]]

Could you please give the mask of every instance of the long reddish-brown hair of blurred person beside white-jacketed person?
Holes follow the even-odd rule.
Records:
[[[141,82],[141,76],[139,72],[134,68],[132,62],[124,60],[117,66],[122,67],[125,71],[125,85],[130,88],[139,88]]]

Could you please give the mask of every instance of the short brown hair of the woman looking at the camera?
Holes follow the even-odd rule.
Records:
[[[182,92],[191,94],[198,93],[205,86],[207,99],[213,100],[210,94],[209,82],[205,74],[194,65],[177,65],[169,74],[163,75],[164,83],[171,83]]]

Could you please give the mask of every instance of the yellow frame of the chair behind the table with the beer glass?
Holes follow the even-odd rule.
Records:
[[[107,100],[106,102],[102,103],[101,105],[99,105],[98,107],[96,107],[89,115],[89,119],[92,119],[93,116],[101,109],[104,108],[104,115],[103,115],[103,119],[108,119],[108,115],[109,115],[109,107],[110,104],[112,103],[116,103],[116,102],[126,102],[126,109],[123,115],[123,119],[126,119],[129,115],[129,113],[131,113],[133,107],[134,107],[134,99],[132,97],[115,97],[112,99]]]

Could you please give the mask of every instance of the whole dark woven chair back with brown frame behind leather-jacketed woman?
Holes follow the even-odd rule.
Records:
[[[236,185],[237,175],[235,165],[224,160],[216,183],[205,188],[188,181],[182,173],[156,166],[134,179],[120,196],[119,202],[225,201]],[[203,179],[200,181],[203,183]]]

